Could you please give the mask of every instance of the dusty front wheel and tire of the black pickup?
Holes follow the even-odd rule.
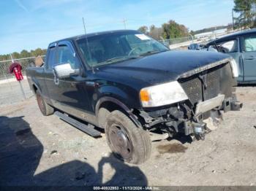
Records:
[[[151,139],[123,112],[110,113],[105,129],[108,146],[121,160],[140,164],[151,155]]]

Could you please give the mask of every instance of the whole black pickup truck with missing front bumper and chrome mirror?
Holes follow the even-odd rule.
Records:
[[[235,70],[228,55],[170,51],[122,30],[50,43],[45,63],[26,74],[42,114],[55,112],[91,136],[104,129],[113,153],[138,164],[152,140],[204,139],[221,111],[239,110]]]

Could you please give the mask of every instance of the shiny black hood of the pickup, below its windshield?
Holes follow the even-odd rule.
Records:
[[[120,79],[133,79],[133,82],[137,79],[140,82],[148,83],[148,85],[156,85],[176,80],[188,71],[229,57],[229,55],[219,52],[167,51],[135,60],[105,65],[100,67],[99,71]]]

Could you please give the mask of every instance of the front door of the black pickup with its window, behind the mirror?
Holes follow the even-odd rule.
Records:
[[[69,63],[72,69],[83,69],[75,50],[70,42],[59,42],[57,46],[56,64]],[[59,79],[59,84],[53,83],[55,95],[50,95],[55,100],[55,105],[64,112],[75,117],[86,119],[89,111],[88,95],[85,88],[85,77],[72,76]]]

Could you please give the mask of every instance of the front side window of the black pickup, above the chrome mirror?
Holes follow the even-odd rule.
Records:
[[[58,47],[58,64],[69,63],[72,69],[79,69],[80,63],[67,45],[59,45]]]

